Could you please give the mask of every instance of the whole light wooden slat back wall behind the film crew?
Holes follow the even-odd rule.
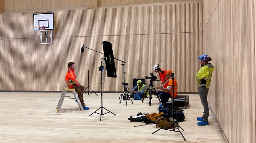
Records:
[[[179,92],[197,92],[194,75],[202,53],[202,3],[131,6],[90,10],[54,11],[53,44],[42,45],[33,31],[33,13],[1,14],[0,57],[8,66],[0,74],[0,90],[61,90],[67,63],[76,63],[78,80],[100,91],[100,58],[82,44],[103,52],[102,41],[112,42],[115,58],[126,61],[126,82],[145,78],[159,63],[176,74]],[[69,17],[69,18],[67,18]],[[13,23],[15,22],[15,23]],[[21,26],[19,26],[21,24]],[[18,28],[17,32],[9,30]],[[4,34],[3,34],[4,33]],[[172,53],[174,52],[174,53]],[[123,68],[118,78],[104,71],[104,91],[122,91]],[[148,85],[148,80],[146,80]],[[154,83],[160,85],[159,82]]]

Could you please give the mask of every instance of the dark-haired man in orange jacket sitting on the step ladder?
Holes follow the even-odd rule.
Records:
[[[90,109],[89,107],[86,107],[85,104],[83,103],[83,90],[84,90],[84,86],[82,86],[78,80],[75,78],[75,73],[74,73],[74,69],[75,69],[75,63],[74,62],[69,62],[68,63],[68,71],[66,73],[66,83],[68,85],[68,88],[74,88],[75,92],[77,92],[78,94],[78,98],[83,106],[84,110],[88,110]],[[77,100],[77,99],[75,99]]]

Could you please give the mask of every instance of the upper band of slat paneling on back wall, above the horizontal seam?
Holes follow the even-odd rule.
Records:
[[[174,9],[173,6],[175,6]],[[182,12],[188,7],[191,9],[192,15],[189,15],[188,11]],[[54,12],[54,37],[77,37],[201,32],[202,26],[196,25],[198,19],[201,19],[202,12],[197,14],[197,10],[201,7],[202,3],[181,3],[35,13]],[[113,16],[113,13],[118,16]],[[140,17],[136,16],[141,13],[144,14]],[[36,32],[33,31],[33,14],[32,12],[1,14],[1,21],[5,21],[6,24],[0,26],[0,31],[2,31],[0,39],[37,38]],[[172,19],[166,18],[169,14],[172,15]],[[111,17],[114,17],[116,21]],[[191,25],[195,26],[191,27]]]

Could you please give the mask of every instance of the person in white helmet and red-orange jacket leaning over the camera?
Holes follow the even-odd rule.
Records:
[[[153,69],[154,69],[154,71],[156,73],[159,73],[160,81],[161,81],[161,84],[163,85],[163,87],[167,88],[169,80],[168,80],[168,78],[165,75],[166,74],[166,70],[163,70],[163,69],[161,70],[159,64],[155,65],[153,67]],[[161,93],[164,93],[164,92],[165,91],[158,91],[158,95],[160,95]]]

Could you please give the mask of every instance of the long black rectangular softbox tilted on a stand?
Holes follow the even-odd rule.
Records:
[[[108,41],[103,41],[103,52],[106,61],[107,77],[116,77],[115,59],[112,50],[112,44]]]

